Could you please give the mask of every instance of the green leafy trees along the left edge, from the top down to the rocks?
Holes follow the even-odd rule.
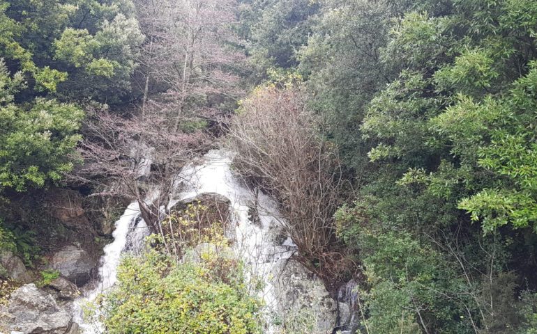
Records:
[[[128,1],[1,1],[0,22],[2,243],[33,267],[66,237],[43,205],[82,163],[86,106],[132,100],[144,36]]]

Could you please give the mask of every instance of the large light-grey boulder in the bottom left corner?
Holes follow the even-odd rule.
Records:
[[[36,285],[23,285],[11,294],[0,323],[9,331],[31,334],[65,334],[71,327],[71,315],[50,294]]]

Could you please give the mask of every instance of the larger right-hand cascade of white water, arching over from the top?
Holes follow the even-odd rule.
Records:
[[[239,180],[231,169],[232,154],[223,150],[211,150],[204,157],[203,164],[190,164],[183,168],[179,181],[186,189],[175,201],[193,198],[202,193],[218,193],[231,201],[232,223],[236,225],[234,250],[245,262],[250,291],[259,294],[266,305],[267,319],[278,313],[278,296],[275,280],[278,267],[291,257],[294,244],[287,238],[278,245],[276,238],[282,225],[282,217],[276,203],[261,191],[257,196]],[[172,205],[174,204],[172,202]],[[255,208],[259,223],[250,219],[250,208]],[[257,281],[261,280],[261,291],[255,292]],[[269,322],[269,321],[268,321]],[[273,333],[269,326],[265,333]]]

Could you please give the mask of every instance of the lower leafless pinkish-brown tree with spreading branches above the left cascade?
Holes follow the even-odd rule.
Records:
[[[84,165],[70,175],[96,189],[92,196],[137,201],[153,232],[160,228],[160,207],[169,202],[179,170],[207,143],[202,132],[170,132],[157,110],[148,107],[145,118],[126,118],[89,107],[79,148]]]

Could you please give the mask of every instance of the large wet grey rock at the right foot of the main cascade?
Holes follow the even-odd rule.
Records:
[[[312,276],[296,260],[289,260],[280,269],[275,285],[280,315],[286,326],[296,321],[312,321],[312,334],[332,333],[337,325],[338,305],[331,299],[322,280]]]

